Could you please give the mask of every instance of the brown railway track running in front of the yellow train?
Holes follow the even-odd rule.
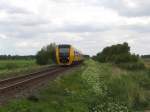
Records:
[[[12,97],[21,91],[32,88],[39,83],[49,79],[50,77],[57,76],[72,67],[51,67],[39,72],[31,73],[25,76],[9,78],[0,81],[0,98]],[[1,101],[0,101],[1,102]]]

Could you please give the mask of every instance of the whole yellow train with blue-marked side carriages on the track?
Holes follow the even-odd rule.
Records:
[[[72,45],[61,44],[56,47],[56,62],[58,65],[69,66],[83,62],[83,54]]]

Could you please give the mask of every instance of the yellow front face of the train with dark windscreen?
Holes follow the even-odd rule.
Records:
[[[71,45],[58,45],[56,48],[56,60],[59,65],[71,65],[73,60]]]

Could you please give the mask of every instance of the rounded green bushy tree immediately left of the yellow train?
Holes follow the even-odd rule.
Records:
[[[36,55],[36,62],[40,65],[51,64],[55,62],[55,48],[56,44],[51,43],[38,51]]]

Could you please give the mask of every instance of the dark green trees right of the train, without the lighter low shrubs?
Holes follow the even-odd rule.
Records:
[[[137,55],[132,55],[130,53],[130,47],[126,42],[106,47],[102,52],[94,56],[94,59],[99,62],[112,63],[137,62],[138,58]]]

